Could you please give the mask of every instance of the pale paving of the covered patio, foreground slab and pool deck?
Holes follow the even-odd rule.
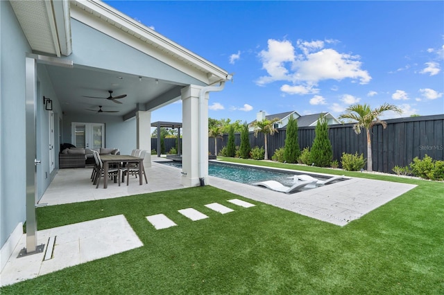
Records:
[[[130,177],[129,186],[126,184],[118,186],[108,181],[107,189],[103,188],[103,183],[99,188],[95,188],[89,179],[92,168],[60,169],[39,204],[52,206],[183,188],[180,184],[182,177],[180,169],[155,163],[165,161],[163,158],[153,156],[152,161],[152,166],[146,168],[148,184],[144,182],[142,186],[139,185],[138,179]],[[209,181],[211,186],[230,193],[338,226],[345,226],[348,222],[358,219],[415,187],[411,184],[352,178],[314,190],[286,195],[217,177],[210,177]],[[1,272],[0,285],[10,285],[142,246],[142,242],[130,228],[124,216],[118,215],[111,218],[113,218],[111,221],[105,218],[94,220],[91,224],[82,222],[38,231],[37,244],[48,244],[50,235],[58,237],[51,259],[46,261],[44,260],[46,249],[43,253],[17,258],[19,251],[26,245],[26,235],[22,235],[6,267]],[[91,235],[92,227],[100,230],[94,231],[94,235]],[[123,247],[114,248],[116,241],[122,238],[130,242],[124,244]]]

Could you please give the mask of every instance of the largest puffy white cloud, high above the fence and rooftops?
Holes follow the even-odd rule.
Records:
[[[296,48],[288,40],[268,39],[268,48],[259,53],[262,69],[268,75],[256,82],[264,85],[275,81],[291,81],[317,86],[321,80],[359,80],[361,84],[370,82],[367,71],[361,69],[359,55],[339,53],[332,48],[323,48],[325,42],[298,40]],[[327,42],[331,43],[331,42]]]

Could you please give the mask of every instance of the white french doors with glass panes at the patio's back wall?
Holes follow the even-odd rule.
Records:
[[[100,148],[105,145],[105,124],[73,122],[71,134],[71,142],[76,147]]]

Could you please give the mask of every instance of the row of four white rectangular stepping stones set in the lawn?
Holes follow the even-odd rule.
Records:
[[[255,206],[254,204],[242,201],[240,199],[229,199],[228,202],[235,204],[237,206],[241,206],[244,208],[250,208]],[[226,214],[234,211],[232,208],[228,208],[227,206],[223,206],[219,203],[211,203],[204,205],[207,208],[212,209],[213,211],[219,212],[221,214]],[[190,220],[197,221],[197,220],[203,220],[205,218],[208,218],[207,215],[200,213],[194,208],[186,208],[178,210],[178,212],[185,217],[189,218]],[[164,214],[156,214],[151,216],[146,216],[146,220],[150,222],[155,229],[168,229],[171,226],[176,226],[177,224],[173,222],[173,220],[170,220],[166,215]]]

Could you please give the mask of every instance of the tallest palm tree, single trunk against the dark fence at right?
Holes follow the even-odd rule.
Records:
[[[361,133],[361,128],[366,128],[367,132],[367,170],[373,171],[372,168],[372,143],[370,138],[370,130],[376,124],[381,124],[385,129],[387,123],[379,119],[379,116],[384,113],[384,111],[395,111],[398,114],[402,114],[402,109],[396,107],[395,105],[389,105],[384,103],[384,105],[377,107],[376,109],[370,109],[370,105],[350,105],[345,109],[345,114],[341,114],[339,119],[351,119],[357,121],[353,125],[353,130],[356,134]]]

